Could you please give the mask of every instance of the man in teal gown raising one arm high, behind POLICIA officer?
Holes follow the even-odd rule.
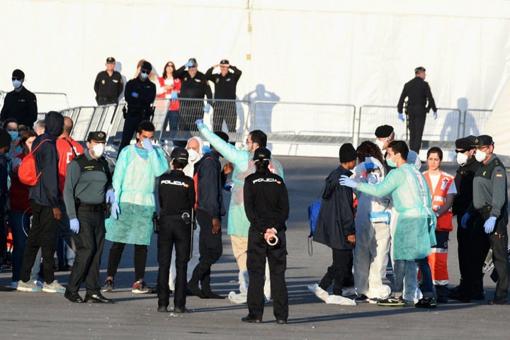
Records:
[[[203,120],[197,120],[196,125],[200,133],[202,133],[205,140],[210,142],[212,147],[215,147],[225,159],[234,164],[234,171],[232,172],[232,181],[234,187],[232,188],[232,196],[230,198],[230,206],[228,213],[228,227],[227,233],[230,235],[232,242],[232,253],[239,266],[239,292],[230,292],[228,297],[232,303],[246,303],[248,293],[248,271],[246,268],[246,251],[248,249],[248,229],[250,222],[244,212],[244,179],[250,174],[255,172],[255,163],[253,160],[253,153],[259,147],[266,147],[267,136],[261,130],[251,131],[246,138],[245,149],[238,150],[234,145],[231,145],[220,137],[217,137],[212,131],[203,123]],[[280,163],[271,157],[269,169],[273,174],[277,174],[282,179],[283,169]],[[285,180],[285,179],[284,179]],[[271,283],[269,281],[269,271],[266,265],[266,282],[264,284],[264,296],[266,300],[271,298]]]

